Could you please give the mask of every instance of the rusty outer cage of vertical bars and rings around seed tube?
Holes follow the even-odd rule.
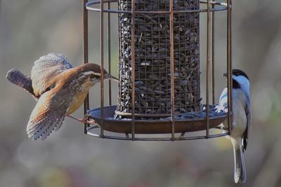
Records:
[[[207,9],[197,9],[197,10],[184,10],[184,11],[174,11],[173,4],[174,1],[170,0],[170,10],[169,11],[135,11],[135,0],[131,0],[131,11],[119,11],[110,9],[110,3],[117,2],[116,0],[113,1],[107,1],[107,0],[100,0],[100,1],[83,1],[84,11],[83,11],[83,31],[84,31],[84,37],[83,37],[83,51],[84,51],[84,63],[88,63],[88,13],[87,11],[98,11],[100,12],[100,66],[101,66],[101,83],[100,83],[100,108],[101,108],[101,125],[100,125],[100,134],[94,134],[90,131],[87,131],[88,125],[84,125],[84,133],[90,134],[91,136],[100,137],[100,138],[111,138],[111,139],[119,139],[119,140],[131,140],[131,141],[181,141],[181,140],[193,140],[193,139],[201,139],[201,138],[216,138],[220,136],[226,136],[230,134],[230,131],[232,129],[232,122],[233,122],[233,115],[231,115],[233,111],[233,101],[232,101],[232,48],[231,48],[231,10],[232,10],[232,1],[227,0],[227,3],[219,3],[215,1],[200,1],[200,3],[207,4]],[[107,3],[107,9],[104,8],[103,4]],[[100,8],[93,8],[91,5],[93,4],[100,4]],[[215,6],[221,6],[216,8]],[[223,132],[221,134],[209,134],[209,77],[210,77],[210,59],[211,59],[211,84],[212,84],[212,103],[215,103],[214,99],[214,12],[215,11],[227,11],[227,73],[228,73],[228,129],[222,129],[218,127],[217,129],[222,129],[224,131],[228,130],[227,132]],[[206,135],[205,136],[190,136],[190,137],[175,137],[174,133],[174,37],[173,37],[173,16],[174,13],[200,13],[200,12],[207,12],[207,86],[206,86],[206,104],[207,104],[207,115],[206,115]],[[136,13],[169,13],[170,18],[170,45],[171,45],[171,138],[136,138],[135,137],[135,111],[134,111],[134,100],[135,100],[135,51],[134,51],[134,34],[132,34],[131,37],[131,46],[132,46],[132,115],[131,115],[131,127],[132,127],[132,136],[129,138],[129,136],[121,137],[121,136],[105,136],[104,135],[104,129],[103,129],[103,118],[104,118],[104,16],[103,13],[108,13],[107,15],[107,53],[108,53],[108,67],[109,72],[111,72],[111,65],[110,65],[110,13],[131,13],[132,16],[132,33],[134,33],[134,18]],[[111,87],[111,84],[110,84]],[[110,96],[109,96],[109,102],[111,105],[111,88],[110,88]],[[89,110],[89,96],[87,96],[86,100],[84,101],[84,113]]]

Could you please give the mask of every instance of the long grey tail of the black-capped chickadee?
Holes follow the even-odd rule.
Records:
[[[239,146],[233,145],[234,152],[234,181],[235,183],[245,183],[247,181],[247,173],[244,162],[244,153],[242,150],[242,145]]]

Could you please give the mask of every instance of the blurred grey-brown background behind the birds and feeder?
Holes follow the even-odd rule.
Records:
[[[281,1],[237,0],[233,4],[233,67],[244,70],[251,79],[254,117],[245,154],[246,184],[235,185],[233,181],[233,149],[224,137],[181,142],[114,141],[86,136],[82,124],[67,118],[60,131],[46,141],[27,138],[25,127],[36,102],[10,84],[6,72],[18,68],[30,75],[34,60],[48,52],[63,53],[73,65],[79,65],[83,56],[82,1],[2,0],[0,186],[281,186]],[[226,71],[226,14],[216,16],[218,98],[226,85],[221,76]],[[201,20],[200,32],[204,34],[204,16]],[[89,61],[99,63],[98,13],[89,13],[89,22]],[[114,17],[115,76],[117,32]],[[204,63],[204,49],[201,54]],[[99,106],[97,90],[91,90],[91,96],[95,95],[90,97],[91,108]],[[82,115],[82,108],[74,113]]]

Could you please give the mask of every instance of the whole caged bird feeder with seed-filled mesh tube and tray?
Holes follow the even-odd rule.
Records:
[[[117,9],[111,8],[117,4]],[[204,4],[207,8],[200,8]],[[110,15],[119,21],[118,103],[112,105],[109,82],[109,106],[104,105],[103,71],[100,83],[100,108],[84,112],[98,124],[96,133],[85,124],[84,132],[100,138],[133,141],[177,141],[215,138],[229,134],[232,124],[231,93],[231,8],[232,2],[199,0],[84,0],[84,63],[88,63],[88,11],[100,13],[100,66],[103,70],[104,31],[107,25],[108,72],[111,73]],[[107,5],[105,8],[104,5]],[[214,14],[227,12],[228,112],[215,108],[214,99]],[[200,14],[207,13],[206,105],[200,101]],[[107,14],[105,24],[104,15]],[[211,70],[210,70],[211,69]],[[211,86],[209,85],[211,84]],[[212,105],[209,93],[212,93]],[[228,120],[228,129],[218,127]],[[220,129],[210,134],[210,129]],[[113,132],[113,135],[105,135]],[[203,131],[186,136],[185,132]],[[129,136],[131,134],[131,137]],[[141,135],[140,135],[141,134]],[[148,134],[152,137],[148,137]],[[169,137],[157,134],[170,134]],[[181,134],[177,136],[177,134]],[[126,135],[126,136],[124,136]],[[140,137],[138,137],[138,136]]]

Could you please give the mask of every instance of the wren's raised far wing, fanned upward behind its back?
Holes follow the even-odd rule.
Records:
[[[51,78],[72,68],[62,54],[48,53],[34,62],[31,71],[32,87],[35,96],[41,96],[47,89],[52,89]]]

